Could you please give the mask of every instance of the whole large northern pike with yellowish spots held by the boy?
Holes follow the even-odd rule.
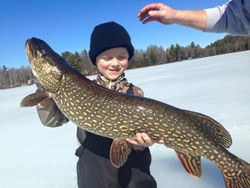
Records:
[[[25,97],[21,106],[34,106],[51,97],[62,113],[80,128],[113,139],[110,161],[122,166],[131,152],[126,138],[145,132],[164,140],[192,176],[200,177],[201,156],[221,170],[227,188],[250,188],[250,165],[230,153],[228,131],[201,113],[146,97],[132,96],[97,85],[73,69],[44,41],[31,38],[26,54],[35,77],[45,88]]]

